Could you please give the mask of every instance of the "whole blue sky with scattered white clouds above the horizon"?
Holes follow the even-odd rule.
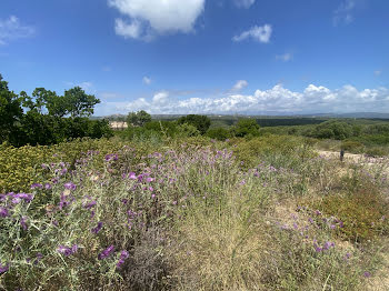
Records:
[[[389,112],[388,0],[1,0],[16,92],[81,86],[97,116]]]

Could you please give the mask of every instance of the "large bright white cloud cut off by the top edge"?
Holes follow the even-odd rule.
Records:
[[[108,0],[129,18],[116,19],[116,32],[124,38],[151,40],[157,34],[192,32],[206,0]]]

